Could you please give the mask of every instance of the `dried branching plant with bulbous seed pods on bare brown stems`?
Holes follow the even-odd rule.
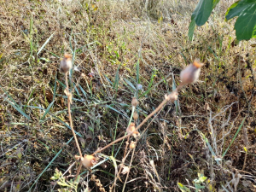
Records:
[[[79,147],[78,139],[77,139],[76,134],[75,134],[74,129],[73,129],[73,120],[72,120],[71,109],[70,109],[70,105],[72,104],[72,93],[69,91],[69,88],[68,88],[67,74],[69,73],[69,70],[72,68],[72,60],[71,60],[71,58],[72,58],[72,55],[68,55],[68,54],[64,55],[64,58],[61,61],[60,71],[61,71],[61,73],[65,73],[66,84],[67,84],[67,88],[65,90],[65,94],[67,95],[68,118],[69,118],[69,121],[70,121],[71,130],[73,131],[73,137],[75,138],[75,142],[76,142],[77,148],[79,149],[79,156],[75,155],[75,158],[80,161],[80,166],[79,166],[79,169],[77,171],[76,177],[79,176],[79,172],[80,172],[80,169],[81,169],[82,165],[85,168],[90,169],[92,166],[94,166],[96,164],[96,157],[95,157],[96,154],[100,153],[102,150],[112,146],[114,143],[118,143],[119,141],[121,141],[121,140],[123,140],[125,138],[127,138],[126,147],[125,147],[125,154],[126,154],[126,150],[127,150],[128,146],[129,146],[129,140],[130,140],[130,137],[132,136],[132,137],[136,138],[136,142],[131,142],[130,146],[129,146],[130,150],[132,149],[132,156],[131,156],[131,161],[130,161],[128,172],[125,172],[125,173],[127,173],[126,178],[125,178],[125,183],[126,183],[127,178],[129,176],[129,171],[131,169],[131,162],[133,160],[134,151],[135,151],[135,148],[136,148],[136,143],[137,143],[137,140],[139,139],[139,136],[140,136],[140,133],[138,132],[138,130],[155,113],[158,113],[160,111],[160,109],[164,107],[166,102],[169,102],[169,101],[170,102],[174,102],[174,101],[176,101],[177,100],[177,96],[178,96],[178,90],[180,90],[183,87],[184,84],[193,84],[193,83],[195,83],[195,81],[197,79],[199,79],[199,75],[200,75],[200,72],[201,72],[201,67],[203,66],[203,64],[201,64],[199,61],[194,61],[188,67],[183,69],[183,71],[180,74],[180,79],[181,79],[182,83],[179,86],[177,86],[177,89],[173,90],[171,94],[166,95],[165,99],[163,100],[163,102],[161,102],[160,105],[157,108],[155,108],[152,113],[150,113],[145,119],[143,119],[143,121],[142,121],[142,123],[140,125],[138,125],[136,127],[135,123],[131,123],[127,127],[127,129],[126,129],[126,133],[127,134],[124,137],[120,137],[119,139],[116,139],[112,143],[109,143],[107,146],[96,150],[96,152],[94,152],[91,155],[84,154],[84,157],[83,157],[81,149]],[[137,101],[137,98],[133,97],[132,101],[131,101],[132,108],[135,109],[137,107],[138,103],[139,102]],[[134,118],[134,120],[137,120],[137,118],[138,118],[137,117],[137,113],[135,113],[135,115],[133,115],[133,118]],[[125,155],[124,155],[124,158],[122,160],[121,167],[124,166],[124,162],[125,162]],[[120,170],[119,170],[119,173],[120,173]],[[119,173],[118,173],[118,177],[119,177]],[[125,189],[125,185],[124,185],[123,191],[124,191],[124,189]]]

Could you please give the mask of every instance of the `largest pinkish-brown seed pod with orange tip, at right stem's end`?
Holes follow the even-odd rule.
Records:
[[[193,84],[199,78],[202,63],[194,61],[180,73],[182,84]]]

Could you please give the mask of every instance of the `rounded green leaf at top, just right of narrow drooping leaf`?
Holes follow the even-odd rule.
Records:
[[[195,18],[197,26],[202,26],[207,22],[212,13],[212,4],[213,0],[200,0],[199,3],[197,3],[195,11],[191,16],[191,20]]]

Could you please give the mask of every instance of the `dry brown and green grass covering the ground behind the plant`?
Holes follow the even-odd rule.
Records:
[[[1,0],[0,190],[57,191],[61,187],[50,180],[55,168],[69,170],[67,181],[74,178],[73,156],[79,151],[70,140],[65,77],[58,67],[64,52],[75,49],[79,70],[73,84],[79,85],[72,114],[83,154],[125,134],[136,95],[131,84],[143,85],[141,122],[179,84],[183,67],[195,58],[206,64],[199,82],[183,88],[176,104],[166,104],[148,121],[125,191],[178,191],[177,182],[193,191],[200,172],[210,179],[204,191],[253,191],[255,48],[252,42],[235,44],[233,21],[224,21],[232,2],[220,3],[191,43],[187,32],[195,1]],[[98,154],[101,166],[92,172],[107,191],[124,150],[125,143],[118,143]],[[126,166],[130,160],[131,153]],[[99,190],[90,177],[82,172],[79,191]],[[118,179],[116,191],[123,182]]]

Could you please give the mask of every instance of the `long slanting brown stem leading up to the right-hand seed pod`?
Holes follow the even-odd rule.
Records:
[[[150,113],[145,119],[143,119],[143,122],[140,125],[138,125],[137,128],[133,132],[127,134],[126,136],[123,136],[123,137],[120,137],[120,138],[116,139],[112,143],[109,143],[108,145],[106,145],[104,148],[100,148],[100,149],[96,150],[96,152],[94,152],[91,155],[95,155],[95,154],[100,153],[102,150],[108,148],[109,146],[113,145],[114,143],[118,143],[119,141],[125,139],[126,137],[130,137],[134,132],[138,131],[148,121],[148,119],[150,119],[155,113],[157,113],[166,104],[166,102],[169,102],[170,100],[172,100],[173,94],[175,92],[178,92],[178,90],[180,90],[183,87],[183,85],[184,84],[180,84],[180,85],[177,86],[176,90],[172,90],[172,93],[169,94],[168,96],[166,96],[164,101],[161,102],[160,105],[157,108],[155,108],[152,113]]]

